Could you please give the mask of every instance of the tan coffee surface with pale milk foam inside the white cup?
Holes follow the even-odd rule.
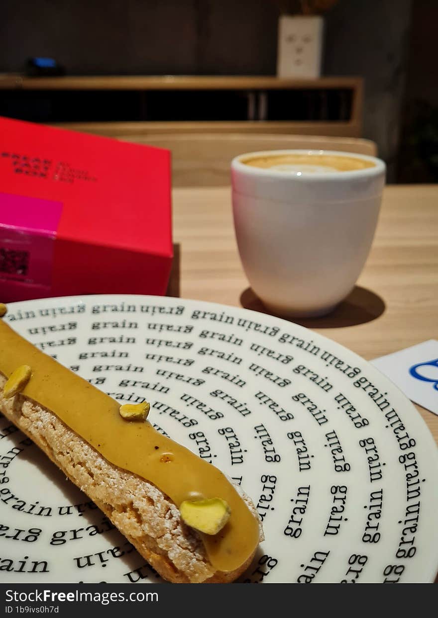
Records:
[[[372,161],[343,155],[319,155],[317,153],[296,153],[285,155],[261,155],[241,159],[251,167],[272,169],[278,172],[301,172],[303,174],[353,172],[367,167],[376,167]]]

